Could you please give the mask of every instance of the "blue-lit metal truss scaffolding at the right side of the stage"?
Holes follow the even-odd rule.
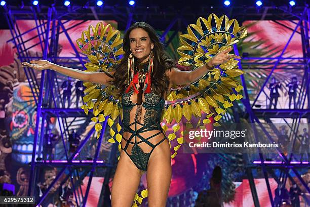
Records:
[[[280,10],[283,10],[282,8],[278,8]],[[244,87],[244,99],[242,99],[242,103],[245,106],[246,112],[249,116],[249,121],[252,123],[257,123],[260,126],[260,130],[263,131],[263,133],[266,135],[270,143],[274,142],[274,136],[273,135],[280,135],[278,129],[274,126],[274,123],[272,121],[272,118],[284,118],[284,120],[287,123],[287,126],[289,127],[289,134],[290,134],[290,143],[293,143],[292,148],[294,147],[294,143],[297,138],[297,132],[300,124],[301,118],[307,119],[307,123],[309,123],[310,120],[310,85],[309,85],[309,72],[310,72],[310,51],[309,51],[309,20],[310,20],[310,10],[309,8],[305,7],[303,8],[303,11],[300,14],[294,14],[291,11],[283,11],[287,15],[292,15],[294,17],[298,18],[298,22],[295,23],[295,28],[290,28],[292,30],[292,34],[290,38],[288,39],[288,42],[286,43],[284,49],[282,50],[281,54],[278,57],[275,58],[264,58],[264,57],[247,57],[244,58],[246,60],[251,60],[251,59],[274,59],[274,62],[269,63],[272,65],[271,71],[267,78],[264,81],[264,84],[261,86],[259,93],[256,95],[255,100],[251,103],[248,95],[248,90],[246,86],[246,81],[244,76],[242,75],[242,84]],[[279,17],[277,14],[276,16]],[[280,19],[284,20],[290,20],[284,18],[286,16],[285,14],[281,15],[282,17]],[[275,21],[279,25],[283,26],[281,23],[278,21]],[[287,26],[286,26],[287,27]],[[300,29],[300,32],[297,32],[297,30]],[[284,64],[284,60],[287,58],[283,57],[283,54],[285,53],[289,43],[291,42],[291,39],[295,33],[299,33],[301,36],[301,42],[302,42],[302,50],[303,50],[303,57],[299,58],[302,63],[295,63],[294,69],[299,69],[303,72],[303,77],[302,77],[302,83],[301,83],[301,89],[298,94],[298,104],[296,109],[259,109],[255,105],[256,101],[258,100],[259,96],[263,93],[264,95],[267,96],[267,99],[269,99],[268,95],[264,92],[264,88],[270,80],[270,77],[273,75],[273,72],[279,67],[281,64]],[[235,53],[236,55],[239,55],[238,49],[235,46]],[[249,63],[245,62],[243,65],[247,64],[256,64],[256,63]],[[239,64],[239,67],[242,68],[242,64]],[[305,104],[305,100],[307,100],[307,104]],[[259,106],[260,107],[260,106]],[[292,119],[291,126],[287,122],[286,118]],[[262,122],[269,123],[271,126],[271,129],[265,129],[262,126]],[[258,129],[254,129],[254,135],[256,138],[256,141],[258,140]],[[295,183],[293,178],[291,177],[290,173],[292,172],[295,174],[296,178],[299,180],[299,182],[302,184],[304,189],[307,192],[310,192],[310,189],[308,188],[307,184],[303,181],[301,178],[299,171],[297,169],[308,169],[309,168],[309,162],[308,161],[294,161],[292,160],[294,154],[289,153],[289,154],[284,154],[283,151],[277,150],[278,156],[281,158],[281,160],[269,160],[267,157],[264,156],[264,154],[261,152],[260,149],[258,149],[258,155],[259,155],[259,160],[250,160],[248,157],[245,157],[246,160],[248,161],[248,168],[247,168],[247,174],[249,178],[249,183],[253,195],[253,200],[254,204],[256,207],[260,206],[259,205],[259,199],[257,196],[256,188],[255,188],[255,183],[253,180],[253,175],[252,175],[252,170],[260,168],[262,171],[262,174],[265,178],[267,190],[268,190],[268,195],[270,199],[270,203],[272,206],[275,206],[274,203],[274,198],[272,196],[272,191],[270,189],[269,181],[268,178],[274,178],[278,183],[286,183],[286,181],[289,179],[291,180],[292,183]],[[280,172],[280,176],[276,175],[276,172]],[[309,204],[310,201],[305,197],[304,200]]]

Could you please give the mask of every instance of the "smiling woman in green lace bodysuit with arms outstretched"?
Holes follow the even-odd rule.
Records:
[[[131,206],[145,171],[148,206],[166,206],[171,182],[171,153],[160,126],[160,114],[167,92],[172,85],[196,81],[213,66],[238,56],[228,54],[232,50],[229,48],[194,71],[180,71],[168,58],[156,31],[144,22],[136,22],[126,31],[123,50],[124,58],[110,74],[84,72],[47,60],[23,62],[23,65],[37,70],[52,69],[82,81],[114,85],[118,89],[115,96],[122,99],[124,133],[112,185],[112,206]]]

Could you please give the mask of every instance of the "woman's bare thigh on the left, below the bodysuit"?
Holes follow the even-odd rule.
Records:
[[[130,207],[137,192],[142,172],[122,150],[112,184],[112,207]]]

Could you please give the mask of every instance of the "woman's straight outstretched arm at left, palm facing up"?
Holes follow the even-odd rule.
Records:
[[[51,69],[66,76],[80,79],[84,82],[94,82],[101,85],[110,85],[110,81],[113,79],[112,74],[109,76],[104,72],[85,72],[78,69],[63,67],[47,60],[32,60],[30,63],[22,62],[23,66],[31,67],[36,70]]]

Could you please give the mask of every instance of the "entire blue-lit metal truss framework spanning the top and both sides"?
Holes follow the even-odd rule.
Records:
[[[295,28],[290,28],[292,30],[291,38],[288,40],[286,46],[284,47],[281,55],[279,57],[273,58],[274,62],[269,63],[272,68],[272,71],[266,78],[263,86],[261,86],[260,92],[258,93],[257,97],[255,98],[254,102],[252,102],[249,99],[249,94],[246,86],[246,80],[245,77],[242,75],[242,85],[244,87],[244,98],[242,99],[242,103],[245,107],[245,112],[248,115],[249,122],[251,123],[257,123],[260,126],[260,130],[263,131],[263,133],[266,135],[268,140],[270,142],[274,141],[274,134],[277,134],[278,131],[274,127],[272,129],[264,129],[262,126],[262,122],[268,122],[272,124],[272,119],[274,117],[282,117],[282,118],[292,118],[293,119],[293,127],[290,127],[291,132],[291,142],[294,142],[294,134],[298,131],[298,126],[300,123],[301,118],[307,118],[308,122],[310,119],[310,97],[309,97],[309,60],[310,60],[310,51],[309,48],[309,19],[310,19],[310,11],[306,7],[295,7],[294,9],[287,8],[286,6],[283,7],[264,7],[263,9],[258,10],[255,7],[230,7],[229,9],[223,9],[223,7],[213,7],[210,6],[202,6],[199,9],[195,7],[183,7],[183,8],[170,8],[166,7],[165,9],[162,9],[160,7],[135,7],[128,8],[128,7],[112,7],[112,6],[105,6],[104,8],[96,8],[92,6],[73,6],[70,9],[64,8],[64,7],[45,7],[41,6],[40,8],[33,8],[33,7],[24,7],[23,10],[20,10],[18,6],[10,6],[6,8],[6,17],[8,24],[10,26],[12,39],[11,41],[14,43],[18,55],[21,61],[29,61],[31,59],[48,59],[55,63],[59,64],[74,64],[75,68],[83,69],[83,63],[85,61],[86,57],[83,57],[79,54],[79,52],[76,50],[74,44],[72,43],[72,40],[70,39],[68,35],[68,30],[70,28],[66,28],[65,23],[73,20],[73,19],[83,19],[83,20],[90,20],[90,19],[96,19],[96,20],[117,20],[120,30],[124,30],[129,28],[132,22],[135,21],[146,21],[155,28],[159,30],[164,30],[164,32],[161,35],[161,39],[163,40],[163,43],[167,46],[171,43],[172,39],[175,37],[175,35],[178,33],[178,31],[181,31],[181,28],[186,28],[186,26],[189,23],[196,22],[197,18],[200,16],[206,16],[210,13],[216,13],[216,14],[226,14],[230,18],[238,18],[240,21],[242,20],[298,20],[296,23]],[[36,30],[37,31],[37,37],[40,38],[40,42],[34,44],[31,47],[26,48],[25,43],[29,41],[29,39],[25,39],[24,35],[25,33],[20,33],[17,19],[31,19],[35,20],[36,27],[28,30]],[[60,22],[60,20],[65,19],[65,22]],[[278,22],[281,24],[280,22]],[[73,27],[73,26],[72,26]],[[300,29],[300,30],[299,30]],[[51,30],[51,32],[50,32]],[[60,30],[62,30],[60,32]],[[164,42],[165,36],[169,31],[173,30],[174,33],[167,42]],[[68,42],[72,46],[72,50],[75,53],[75,57],[58,57],[57,56],[57,41],[58,36],[60,33],[64,32],[66,37],[68,38]],[[51,33],[51,35],[50,35]],[[279,65],[281,65],[283,60],[287,59],[282,57],[285,53],[285,50],[287,49],[292,36],[294,33],[300,33],[302,36],[302,45],[303,45],[303,57],[300,58],[303,63],[299,64],[293,64],[292,67],[297,67],[300,70],[304,71],[303,76],[303,82],[302,82],[302,88],[300,90],[300,94],[298,97],[298,100],[300,100],[300,104],[298,105],[297,109],[289,110],[289,109],[257,109],[255,108],[255,103],[260,96],[261,93],[264,93],[264,87],[267,84],[267,81],[272,76],[272,73],[277,69]],[[42,57],[31,57],[28,54],[28,51],[34,47],[35,45],[40,45],[42,48]],[[239,51],[237,49],[237,46],[234,47],[235,54],[239,55]],[[64,59],[74,59],[76,60],[73,63],[69,62],[61,62]],[[244,58],[245,60],[251,60],[251,59],[257,59],[257,57],[248,57]],[[261,58],[261,59],[268,59],[268,58]],[[242,64],[251,64],[247,63],[246,61]],[[239,63],[239,67],[242,68],[242,64]],[[91,129],[88,133],[88,135],[84,138],[84,140],[80,143],[79,147],[75,150],[74,153],[69,155],[68,153],[65,154],[65,159],[63,161],[57,161],[57,162],[46,162],[46,160],[35,160],[35,157],[37,155],[40,155],[42,152],[42,140],[43,136],[46,133],[47,128],[45,127],[45,123],[48,124],[49,117],[56,117],[58,124],[61,129],[61,141],[63,143],[63,146],[66,147],[65,143],[67,141],[67,137],[69,134],[69,130],[72,129],[74,125],[74,121],[77,118],[82,118],[82,120],[88,120],[88,117],[85,116],[84,111],[82,109],[65,109],[62,103],[61,98],[61,90],[58,85],[58,79],[61,78],[59,74],[56,74],[54,71],[42,71],[41,73],[41,81],[40,85],[38,85],[38,80],[36,79],[34,72],[30,68],[25,68],[25,74],[27,75],[29,85],[31,87],[31,91],[33,94],[33,97],[35,98],[35,103],[37,106],[37,121],[36,121],[36,130],[35,130],[35,138],[34,143],[38,143],[39,149],[38,152],[36,152],[36,144],[33,146],[33,156],[32,156],[32,162],[31,162],[31,177],[29,182],[29,195],[34,195],[34,191],[36,189],[36,181],[38,177],[38,169],[40,167],[44,167],[47,165],[53,165],[57,167],[62,167],[59,174],[56,176],[53,183],[49,186],[47,191],[43,194],[43,196],[38,199],[37,204],[41,204],[44,202],[45,199],[49,198],[48,191],[52,188],[52,186],[57,182],[57,180],[64,174],[64,172],[69,169],[69,171],[72,173],[72,175],[76,175],[79,173],[74,174],[73,172],[76,170],[74,168],[75,166],[78,167],[88,167],[88,169],[91,169],[90,174],[90,181],[94,175],[94,170],[96,167],[104,167],[107,168],[103,187],[100,194],[100,200],[98,202],[98,206],[102,206],[104,203],[104,206],[110,206],[110,200],[109,200],[109,192],[108,192],[108,182],[109,177],[111,176],[112,172],[111,169],[114,166],[115,162],[115,153],[117,152],[117,146],[113,145],[108,162],[102,162],[102,160],[98,160],[98,152],[99,147],[102,142],[102,134],[101,137],[99,137],[96,153],[92,160],[76,160],[76,156],[78,156],[78,153],[80,150],[85,146],[87,143],[87,140],[93,135],[95,132],[94,129]],[[307,105],[305,105],[305,99],[307,99]],[[236,116],[234,116],[235,120],[239,120],[239,114],[236,112],[234,113]],[[72,118],[70,121],[68,121],[68,118]],[[84,119],[83,119],[84,118]],[[105,123],[104,123],[105,124]],[[41,125],[41,133],[38,134],[39,128]],[[84,126],[86,127],[86,126]],[[104,126],[103,126],[104,127]],[[258,129],[254,130],[255,137],[257,139],[258,137]],[[41,146],[41,148],[40,148]],[[68,150],[66,150],[67,152]],[[300,183],[304,186],[304,188],[309,191],[309,188],[302,180],[299,172],[297,169],[305,168],[307,167],[308,163],[294,163],[292,160],[292,154],[285,155],[281,150],[277,150],[277,153],[281,160],[278,160],[279,163],[268,163],[269,160],[267,160],[266,157],[262,154],[262,152],[259,150],[259,160],[256,160],[257,162],[253,163],[253,160],[251,160],[247,155],[245,155],[245,160],[247,160],[248,168],[246,169],[246,174],[249,179],[253,200],[255,207],[259,206],[259,198],[257,196],[255,183],[254,183],[254,177],[253,177],[253,168],[260,168],[263,172],[263,176],[266,181],[266,186],[268,190],[268,195],[270,198],[270,201],[272,203],[272,206],[274,207],[274,201],[272,197],[272,191],[270,189],[268,178],[272,177],[274,178],[278,183],[280,182],[286,182],[287,179],[290,179],[292,182],[295,182],[292,177],[290,176],[289,171],[292,171],[295,176],[299,179]],[[281,162],[281,163],[280,163]],[[292,163],[293,162],[293,163]],[[276,175],[275,171],[280,170],[281,175]],[[71,178],[70,175],[66,176],[66,179],[71,179],[72,185],[74,186],[75,182]],[[81,181],[81,178],[78,178],[79,181]],[[87,191],[85,195],[82,195],[83,199],[78,200],[80,198],[79,193],[82,193],[82,190],[79,190],[78,183],[76,183],[76,187],[74,188],[74,195],[76,202],[79,203],[79,206],[85,206],[87,196],[90,189],[90,183],[88,183]],[[309,201],[308,201],[309,203]]]

